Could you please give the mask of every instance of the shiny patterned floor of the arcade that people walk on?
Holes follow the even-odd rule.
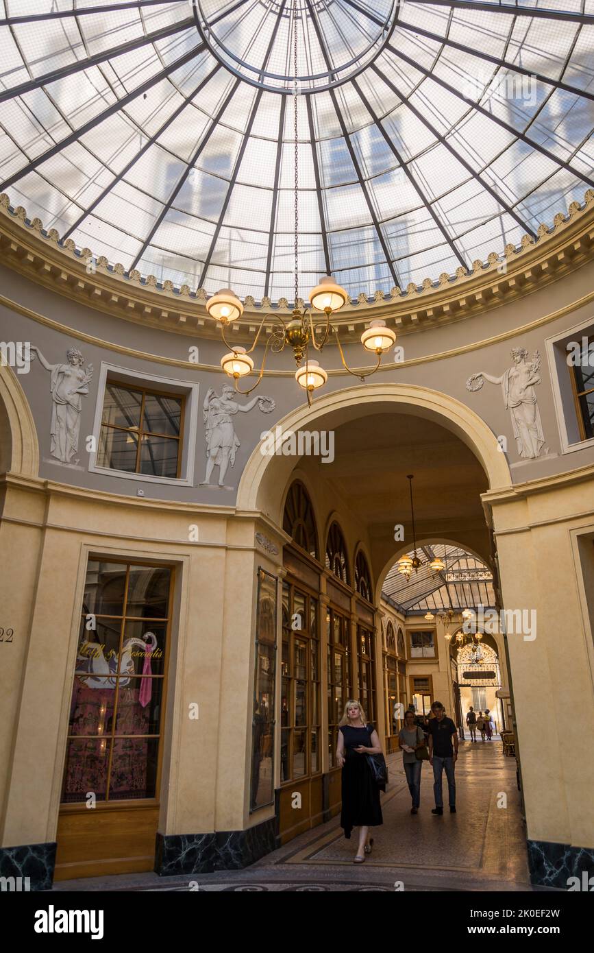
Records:
[[[408,813],[409,796],[400,754],[387,758],[390,781],[383,797],[384,826],[373,853],[355,866],[356,840],[346,841],[334,818],[309,830],[242,871],[191,877],[156,874],[57,883],[54,891],[368,891],[395,889],[531,891],[525,835],[516,786],[516,762],[504,758],[499,739],[460,745],[456,768],[458,813],[431,815],[432,773],[423,766],[421,809]],[[501,793],[507,807],[498,808]]]

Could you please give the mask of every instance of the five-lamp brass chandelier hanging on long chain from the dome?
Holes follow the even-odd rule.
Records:
[[[236,321],[244,312],[244,306],[236,294],[230,288],[224,288],[217,294],[213,294],[207,301],[207,311],[210,317],[221,323],[221,335],[223,341],[228,347],[228,354],[221,359],[221,367],[229,377],[233,378],[233,385],[239,394],[250,394],[258,386],[265,373],[268,351],[273,354],[279,354],[286,347],[293,350],[297,371],[295,379],[297,383],[304,388],[307,394],[307,403],[311,406],[311,395],[319,387],[327,382],[327,372],[317,360],[309,358],[309,345],[320,354],[324,350],[330,334],[336,337],[336,343],[340,352],[343,367],[355,377],[365,380],[371,374],[374,374],[382,361],[382,355],[392,347],[396,341],[396,334],[390,328],[386,327],[386,321],[371,321],[370,325],[361,335],[361,343],[366,351],[375,354],[377,362],[374,367],[363,371],[352,371],[345,359],[343,348],[340,342],[337,329],[331,325],[330,316],[339,311],[347,303],[347,292],[341,288],[331,275],[326,275],[309,294],[310,307],[303,309],[300,307],[299,300],[299,142],[298,142],[298,95],[299,83],[297,72],[297,2],[293,2],[293,126],[294,126],[294,209],[295,209],[295,236],[294,236],[294,280],[295,280],[295,306],[292,314],[286,320],[281,314],[265,314],[260,323],[253,343],[249,350],[238,345],[230,344],[226,336],[226,330],[232,321]],[[321,317],[314,318],[312,311],[323,312],[326,319]],[[262,365],[258,373],[258,378],[247,391],[241,391],[238,387],[238,381],[241,377],[251,374],[254,362],[249,356],[256,347],[262,329],[266,322],[273,319],[271,333],[268,335],[265,352],[262,358]],[[305,360],[305,364],[302,362]]]

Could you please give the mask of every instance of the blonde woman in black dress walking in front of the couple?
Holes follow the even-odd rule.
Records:
[[[359,828],[359,848],[354,863],[363,863],[371,853],[373,838],[369,827],[384,823],[380,789],[373,779],[366,755],[379,755],[382,746],[372,724],[366,724],[365,712],[358,701],[347,701],[339,722],[336,763],[343,769],[343,809],[341,827],[350,840],[353,827]]]

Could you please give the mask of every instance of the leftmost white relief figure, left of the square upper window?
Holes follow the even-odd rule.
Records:
[[[70,463],[78,452],[81,396],[89,394],[92,364],[83,368],[85,358],[76,348],[69,348],[68,364],[50,364],[39,348],[31,346],[30,350],[39,357],[39,363],[50,375],[49,392],[53,404],[49,452],[63,463]]]

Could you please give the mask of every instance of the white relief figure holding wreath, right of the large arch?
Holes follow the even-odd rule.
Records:
[[[541,412],[534,390],[535,385],[541,382],[541,375],[538,373],[541,355],[535,351],[532,360],[528,361],[528,352],[525,348],[513,348],[511,356],[514,363],[512,367],[507,368],[505,374],[501,377],[493,377],[485,374],[484,371],[479,371],[468,377],[466,390],[480,390],[483,386],[482,378],[491,384],[502,385],[505,410],[508,410],[511,416],[518,454],[525,459],[534,459],[540,456],[541,448],[545,443]]]

